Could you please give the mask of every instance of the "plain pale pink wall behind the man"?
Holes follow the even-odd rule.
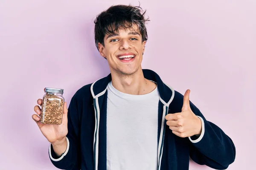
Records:
[[[138,0],[1,0],[0,169],[55,170],[47,139],[31,119],[44,87],[69,104],[83,85],[109,74],[93,20],[113,4]],[[140,0],[147,9],[143,68],[190,99],[236,145],[229,170],[255,165],[256,1]],[[190,164],[190,170],[210,170]]]

